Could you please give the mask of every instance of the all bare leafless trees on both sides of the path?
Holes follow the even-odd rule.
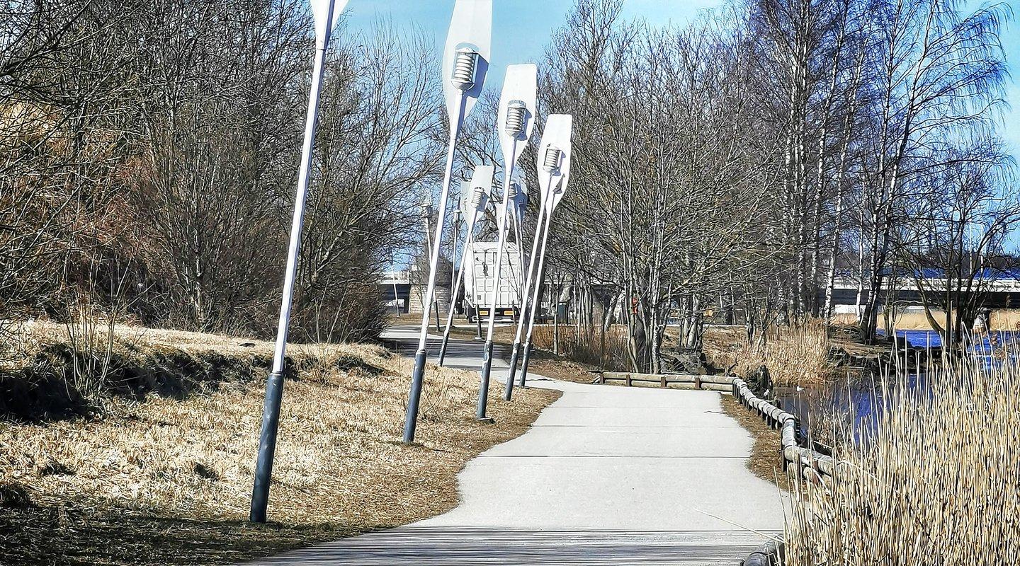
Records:
[[[901,280],[944,334],[972,322],[978,304],[960,291],[1011,265],[1020,212],[997,134],[1008,6],[734,0],[663,27],[622,5],[577,0],[539,65],[540,128],[574,116],[553,302],[595,327],[624,323],[630,364],[647,371],[663,348],[700,348],[710,312],[751,339],[829,320],[837,280],[857,286],[869,334]],[[2,12],[0,319],[86,302],[270,335],[311,73],[307,5],[5,0]],[[423,247],[446,139],[425,38],[386,21],[337,37],[295,299],[306,339],[384,324],[378,275]],[[464,178],[500,164],[490,91],[465,126]],[[533,147],[521,164],[537,187]],[[493,227],[490,215],[479,232]],[[926,288],[931,269],[952,292]],[[935,318],[950,305],[957,316]]]

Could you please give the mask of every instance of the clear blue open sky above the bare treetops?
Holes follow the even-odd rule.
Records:
[[[413,22],[435,41],[439,53],[446,41],[454,0],[351,0],[348,25],[368,29],[376,18],[389,18],[398,26]],[[720,0],[625,0],[624,16],[642,17],[659,25],[684,23],[699,10],[721,4]],[[968,2],[971,8],[981,2]],[[492,73],[487,90],[498,92],[508,64],[538,62],[553,31],[563,25],[573,0],[495,0],[493,2]],[[1020,161],[1020,3],[1014,20],[1007,23],[1003,47],[1013,78],[1006,99],[1012,107],[1000,131]],[[439,72],[439,69],[437,69]]]

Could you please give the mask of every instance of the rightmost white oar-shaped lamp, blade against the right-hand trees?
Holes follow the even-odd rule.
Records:
[[[527,361],[530,357],[531,330],[534,328],[534,312],[539,308],[539,296],[542,290],[542,271],[546,261],[546,243],[549,239],[549,227],[553,221],[553,211],[560,204],[567,189],[570,177],[570,135],[573,128],[573,116],[570,114],[552,114],[546,120],[546,129],[539,146],[539,189],[542,203],[539,209],[539,221],[534,226],[534,239],[531,241],[531,261],[528,265],[527,283],[533,288],[525,288],[524,300],[530,290],[530,308],[527,303],[521,304],[521,317],[517,322],[517,333],[514,335],[513,349],[510,352],[510,373],[507,375],[505,398],[513,394],[514,373],[517,370],[517,356],[520,351],[521,334],[526,328],[524,338],[524,359],[521,362],[520,386],[524,387],[527,378]],[[543,225],[545,219],[545,225]],[[540,238],[541,231],[541,238]],[[538,253],[536,252],[538,251]],[[538,267],[536,267],[538,256]]]

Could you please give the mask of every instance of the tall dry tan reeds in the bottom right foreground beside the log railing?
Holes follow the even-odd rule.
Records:
[[[1015,348],[1014,348],[1015,350]],[[873,427],[833,418],[831,486],[792,487],[792,566],[1020,560],[1020,364],[946,359],[891,370]]]

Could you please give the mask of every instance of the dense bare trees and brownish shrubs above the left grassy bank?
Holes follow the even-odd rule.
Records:
[[[86,303],[270,335],[314,45],[299,0],[3,2],[0,319]],[[376,332],[437,175],[434,54],[379,22],[328,56],[294,317]]]

